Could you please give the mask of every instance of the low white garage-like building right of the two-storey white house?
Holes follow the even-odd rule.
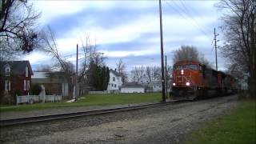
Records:
[[[127,82],[121,86],[121,93],[145,93],[146,86],[138,84],[138,82]]]

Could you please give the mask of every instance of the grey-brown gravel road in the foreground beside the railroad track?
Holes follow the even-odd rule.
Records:
[[[2,128],[3,143],[182,143],[202,122],[229,113],[236,95],[146,110]]]

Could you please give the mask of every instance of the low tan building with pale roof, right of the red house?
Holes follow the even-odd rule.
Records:
[[[69,85],[63,72],[34,72],[31,80],[33,85],[45,86],[50,94],[69,95]]]

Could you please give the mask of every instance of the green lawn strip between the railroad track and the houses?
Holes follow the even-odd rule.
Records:
[[[88,94],[78,102],[46,102],[35,103],[31,105],[20,106],[0,106],[0,112],[9,111],[29,111],[29,110],[42,110],[57,107],[75,107],[75,106],[111,106],[132,104],[141,102],[159,102],[161,100],[160,93],[151,94]]]

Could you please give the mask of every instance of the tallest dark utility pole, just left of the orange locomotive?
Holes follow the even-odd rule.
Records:
[[[159,14],[160,14],[160,40],[161,40],[161,69],[162,69],[162,102],[166,102],[166,86],[165,86],[165,70],[163,62],[163,42],[162,42],[162,5],[159,0]]]

